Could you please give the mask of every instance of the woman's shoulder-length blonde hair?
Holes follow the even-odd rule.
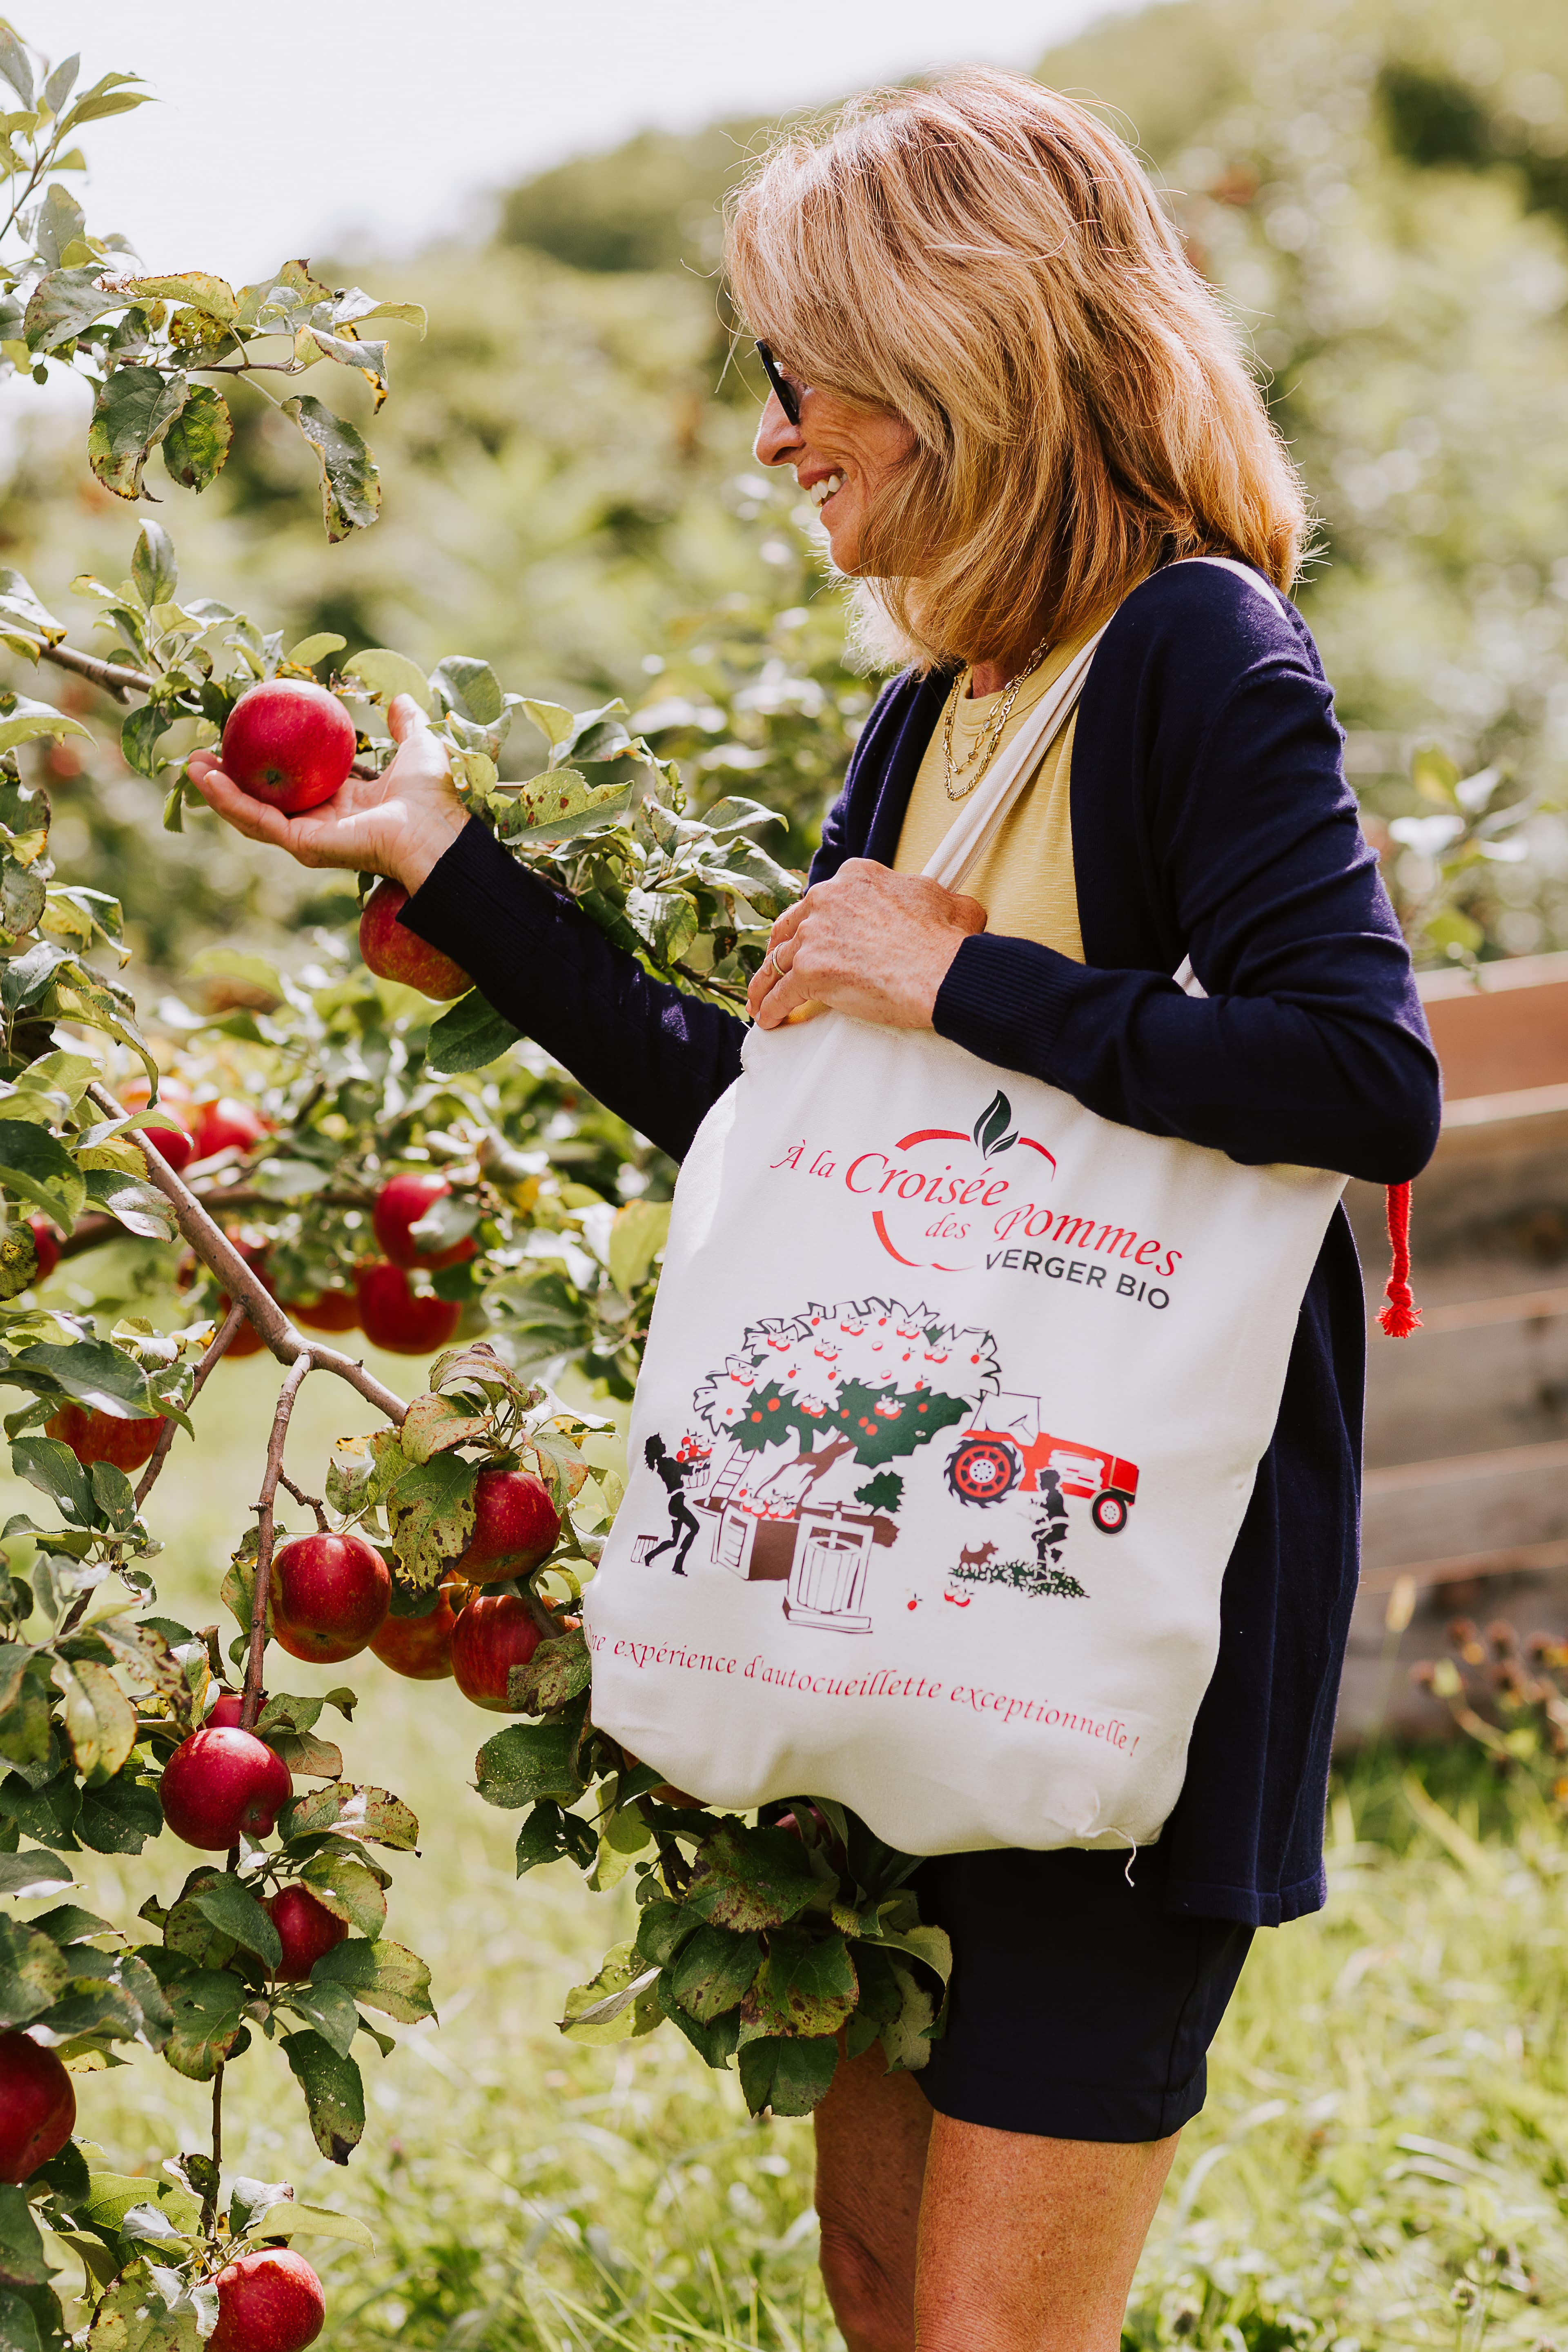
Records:
[[[964,68],[785,134],[726,205],[752,334],[914,430],[863,534],[860,635],[922,668],[1060,644],[1159,562],[1291,588],[1302,487],[1133,151]]]

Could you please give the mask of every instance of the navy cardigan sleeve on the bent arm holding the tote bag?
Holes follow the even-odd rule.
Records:
[[[1079,901],[1117,880],[1143,894],[1171,964],[1095,969],[978,934],[933,1025],[1124,1127],[1401,1183],[1436,1143],[1439,1068],[1312,637],[1260,586],[1173,572],[1121,609],[1084,694],[1079,741],[1110,762],[1084,779],[1091,807],[1126,821],[1079,840],[1074,776]],[[1168,976],[1182,950],[1206,997]]]

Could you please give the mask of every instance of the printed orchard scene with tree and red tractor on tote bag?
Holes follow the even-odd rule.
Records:
[[[919,1479],[914,1519],[929,1529],[933,1505],[950,1519],[950,1505],[961,1508],[943,1578],[943,1599],[959,1609],[973,1592],[954,1585],[1086,1599],[1063,1566],[1067,1498],[1088,1501],[1093,1526],[1114,1536],[1138,1496],[1135,1463],[1053,1435],[1037,1397],[1001,1388],[990,1331],[896,1298],[750,1324],[724,1369],[698,1385],[691,1421],[677,1444],[658,1432],[644,1442],[670,1526],[639,1534],[632,1559],[668,1562],[677,1576],[696,1559],[745,1583],[783,1583],[785,1621],[825,1632],[872,1630],[875,1555],[898,1543],[910,1479],[929,1451],[940,1477]],[[969,1512],[1009,1498],[1018,1503],[1004,1515],[1004,1541],[983,1524],[966,1541]],[[910,1590],[903,1606],[922,1597],[933,1595]]]

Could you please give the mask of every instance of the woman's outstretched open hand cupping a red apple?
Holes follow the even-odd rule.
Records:
[[[209,809],[247,842],[273,842],[301,866],[348,866],[353,873],[390,875],[414,896],[435,861],[468,823],[447,771],[447,750],[430,734],[411,694],[397,694],[388,710],[397,753],[383,776],[348,776],[320,809],[282,816],[266,800],[252,800],[219,767],[216,750],[195,750],[186,774]]]

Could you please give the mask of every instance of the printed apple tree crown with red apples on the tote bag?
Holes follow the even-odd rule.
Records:
[[[743,1454],[799,1442],[879,1472],[856,1486],[867,1510],[898,1510],[903,1479],[886,1463],[969,1421],[999,1385],[990,1331],[943,1322],[926,1305],[846,1298],[835,1308],[750,1324],[724,1371],[703,1381],[696,1414]]]

